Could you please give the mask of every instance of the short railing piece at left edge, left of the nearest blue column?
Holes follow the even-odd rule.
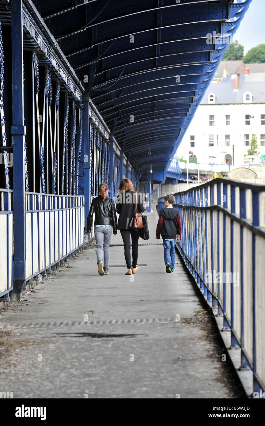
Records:
[[[0,189],[0,297],[12,290],[13,191]]]

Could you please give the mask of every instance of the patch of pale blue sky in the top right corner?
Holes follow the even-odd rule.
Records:
[[[265,0],[252,0],[234,36],[245,47],[244,55],[252,47],[265,44]]]

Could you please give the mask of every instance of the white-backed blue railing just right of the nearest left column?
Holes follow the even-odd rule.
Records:
[[[84,244],[84,196],[25,193],[26,280],[46,275]]]

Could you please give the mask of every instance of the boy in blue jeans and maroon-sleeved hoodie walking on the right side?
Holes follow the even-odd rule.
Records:
[[[181,240],[181,220],[178,210],[173,208],[175,197],[169,194],[164,197],[165,207],[159,212],[158,224],[156,227],[156,239],[161,237],[164,246],[164,261],[166,272],[171,273],[175,270],[175,244],[176,237]]]

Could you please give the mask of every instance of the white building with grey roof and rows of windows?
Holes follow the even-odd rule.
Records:
[[[258,154],[250,159],[253,135]],[[265,73],[228,75],[210,83],[177,157],[206,164],[265,164]]]

